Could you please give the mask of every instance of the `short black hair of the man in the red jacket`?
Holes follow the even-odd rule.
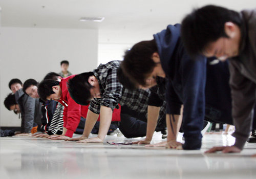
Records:
[[[59,82],[56,80],[43,80],[39,83],[37,93],[41,100],[47,101],[47,97],[49,97],[51,94],[54,94],[52,91],[52,86],[59,85]]]

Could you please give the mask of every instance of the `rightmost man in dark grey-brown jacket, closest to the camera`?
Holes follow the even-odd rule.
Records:
[[[182,21],[181,37],[190,56],[228,59],[232,117],[236,127],[232,146],[207,152],[240,152],[249,137],[256,102],[256,9],[236,12],[219,6],[193,10]],[[254,111],[255,113],[255,111]]]

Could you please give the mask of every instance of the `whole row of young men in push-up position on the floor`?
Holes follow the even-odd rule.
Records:
[[[31,132],[40,121],[35,117],[39,104],[46,123],[38,125],[44,133],[37,137],[80,143],[102,143],[118,127],[127,138],[146,136],[134,144],[150,144],[154,131],[165,138],[167,127],[167,141],[158,146],[194,150],[201,148],[205,121],[230,124],[236,127],[234,145],[207,152],[240,152],[256,129],[255,30],[256,10],[205,6],[182,24],[136,43],[122,61],[65,78],[49,73],[40,83],[25,81],[23,88],[13,79],[5,105],[22,112],[22,132]],[[26,107],[35,108],[34,120],[23,114]],[[97,120],[98,135],[89,138]],[[72,138],[81,122],[81,137]],[[184,143],[177,142],[180,130]]]

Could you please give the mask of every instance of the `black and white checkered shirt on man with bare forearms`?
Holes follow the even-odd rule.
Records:
[[[100,106],[110,107],[112,110],[118,108],[118,103],[123,106],[126,105],[138,113],[147,111],[148,97],[150,97],[150,90],[137,89],[136,91],[129,91],[124,88],[118,81],[117,69],[121,61],[110,61],[106,64],[100,64],[97,69],[93,71],[94,76],[99,81],[101,98],[95,98],[91,101],[89,109],[96,114],[100,113]]]

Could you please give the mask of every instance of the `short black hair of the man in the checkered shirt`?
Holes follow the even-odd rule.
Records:
[[[90,89],[93,86],[88,82],[93,72],[81,73],[74,76],[68,82],[68,90],[71,98],[80,105],[88,105],[92,99]]]

